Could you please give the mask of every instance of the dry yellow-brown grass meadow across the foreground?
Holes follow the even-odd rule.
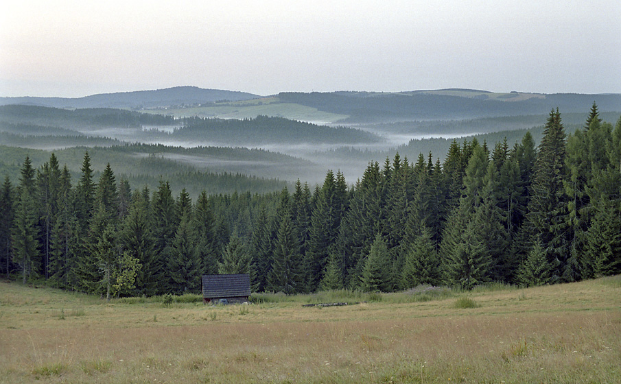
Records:
[[[356,295],[165,306],[0,282],[0,382],[621,383],[621,276]]]

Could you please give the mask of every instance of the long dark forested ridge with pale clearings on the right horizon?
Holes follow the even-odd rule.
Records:
[[[410,93],[279,93],[283,102],[340,115],[351,123],[424,119],[473,119],[541,115],[553,108],[584,112],[595,101],[601,111],[621,111],[621,95],[495,94],[483,91],[415,91]]]

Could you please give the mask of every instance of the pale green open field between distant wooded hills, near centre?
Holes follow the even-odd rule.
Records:
[[[284,117],[285,119],[309,121],[318,124],[338,123],[347,115],[323,112],[317,108],[293,103],[281,103],[277,97],[236,101],[215,106],[172,108],[167,110],[143,110],[142,112],[173,115],[174,117],[218,117],[220,119],[252,119],[259,115]]]

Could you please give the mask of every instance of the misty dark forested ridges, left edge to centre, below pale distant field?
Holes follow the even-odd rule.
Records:
[[[97,136],[123,134],[111,139],[132,142],[181,141],[183,143],[224,143],[263,145],[268,143],[378,143],[375,134],[347,127],[329,127],[284,119],[257,116],[253,119],[215,119],[153,115],[111,108],[65,110],[41,106],[0,106],[0,143],[23,146],[34,136],[46,136],[50,145],[115,145],[118,141]],[[164,132],[167,128],[169,132]],[[58,137],[54,137],[58,136]],[[38,138],[40,142],[40,138]]]

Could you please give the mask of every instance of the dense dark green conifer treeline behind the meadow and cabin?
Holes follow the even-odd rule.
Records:
[[[311,191],[174,197],[79,180],[54,154],[29,158],[0,193],[2,271],[110,296],[200,291],[200,276],[249,273],[255,291],[465,289],[570,282],[621,272],[621,119],[597,106],[567,137],[552,111],[539,147],[456,141],[444,163],[397,154],[348,187],[328,171]]]

